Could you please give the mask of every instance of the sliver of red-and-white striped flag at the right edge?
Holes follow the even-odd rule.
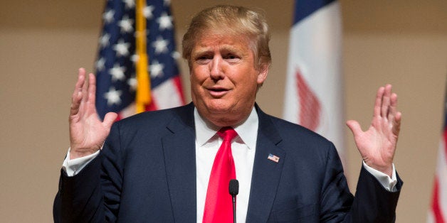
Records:
[[[438,163],[433,185],[433,197],[427,222],[447,222],[447,94],[444,108],[443,134],[438,148]]]

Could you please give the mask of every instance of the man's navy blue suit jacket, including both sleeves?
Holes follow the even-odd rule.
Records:
[[[399,197],[362,168],[355,198],[335,146],[302,126],[259,117],[246,222],[393,222]],[[268,159],[278,156],[279,162]],[[196,222],[194,105],[112,126],[78,175],[61,170],[55,222]]]

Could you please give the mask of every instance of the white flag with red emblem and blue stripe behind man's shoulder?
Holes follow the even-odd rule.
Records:
[[[295,1],[284,119],[332,141],[345,165],[341,52],[338,1]]]

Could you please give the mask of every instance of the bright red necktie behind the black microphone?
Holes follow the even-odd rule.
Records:
[[[233,155],[231,155],[231,140],[238,134],[231,127],[223,127],[217,132],[223,142],[209,176],[208,190],[206,191],[204,223],[233,222],[233,203],[228,192],[228,183],[236,179]]]

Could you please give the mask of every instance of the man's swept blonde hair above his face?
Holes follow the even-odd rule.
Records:
[[[213,6],[194,16],[188,30],[183,36],[183,58],[191,67],[192,48],[202,34],[207,31],[221,31],[235,36],[246,36],[253,51],[256,67],[270,65],[271,55],[268,42],[270,31],[261,12],[252,11],[242,6]]]

